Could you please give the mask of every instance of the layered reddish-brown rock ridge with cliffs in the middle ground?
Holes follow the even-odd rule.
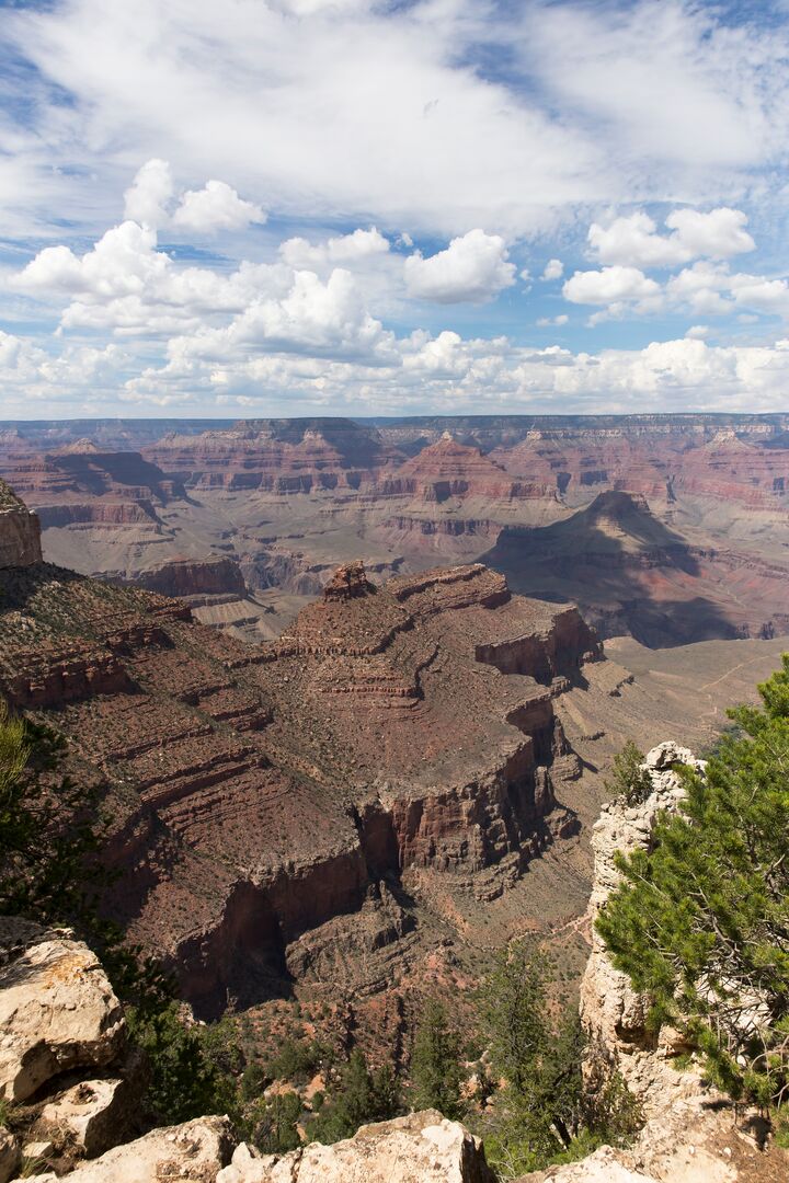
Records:
[[[336,938],[306,935],[360,909],[408,942],[408,868],[524,870],[575,832],[554,702],[599,642],[479,564],[384,586],[347,565],[260,646],[44,563],[0,590],[0,691],[104,784],[114,912],[200,1014],[286,991]]]

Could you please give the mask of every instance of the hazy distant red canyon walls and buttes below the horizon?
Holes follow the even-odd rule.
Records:
[[[278,636],[341,563],[447,563],[578,601],[652,647],[782,635],[789,416],[8,424],[45,556]],[[602,496],[602,500],[597,500]],[[612,497],[614,498],[612,500]],[[574,555],[582,560],[574,564]]]

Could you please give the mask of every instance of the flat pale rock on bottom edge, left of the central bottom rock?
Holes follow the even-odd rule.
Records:
[[[232,1148],[228,1118],[201,1117],[151,1130],[144,1138],[108,1150],[66,1177],[75,1183],[215,1183]],[[48,1183],[50,1178],[54,1176],[33,1176],[28,1183]]]

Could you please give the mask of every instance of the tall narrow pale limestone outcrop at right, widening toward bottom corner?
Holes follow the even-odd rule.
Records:
[[[646,1121],[627,1150],[603,1146],[578,1163],[535,1172],[520,1183],[777,1183],[785,1177],[789,1155],[759,1148],[757,1114],[738,1112],[705,1081],[698,1065],[678,1059],[691,1051],[678,1032],[648,1028],[648,1000],[613,967],[594,930],[600,909],[619,883],[615,854],[648,849],[659,816],[681,808],[685,790],[678,765],[704,772],[704,762],[686,748],[665,742],[652,749],[642,764],[652,781],[651,795],[638,806],[621,801],[604,806],[593,835],[595,878],[588,911],[593,944],[581,983],[581,1017],[593,1062],[602,1055],[615,1065]]]

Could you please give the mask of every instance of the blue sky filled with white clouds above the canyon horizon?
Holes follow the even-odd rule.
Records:
[[[782,4],[0,2],[0,416],[785,411]]]

